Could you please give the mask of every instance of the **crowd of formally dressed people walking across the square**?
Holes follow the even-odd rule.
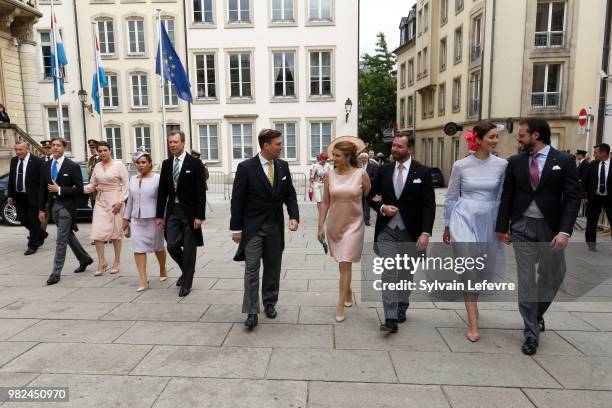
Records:
[[[602,209],[608,219],[612,216],[610,147],[596,146],[594,160],[585,164],[585,151],[573,157],[553,148],[548,123],[536,118],[520,122],[517,141],[521,152],[507,160],[495,155],[499,135],[494,124],[479,123],[464,136],[471,153],[453,166],[441,238],[447,244],[486,246],[490,254],[488,276],[500,279],[505,266],[504,244],[514,244],[519,310],[525,323],[522,351],[534,354],[540,333],[545,330],[544,314],[565,276],[564,249],[573,233],[581,201],[586,204],[586,241],[591,250],[597,250],[597,219]],[[25,143],[15,145],[9,200],[17,206],[19,218],[29,231],[25,255],[43,245],[50,213],[57,225],[57,239],[47,284],[59,282],[67,246],[79,261],[75,272],[85,271],[94,261],[75,235],[76,208],[78,199],[90,194],[90,238],[98,258],[94,275],[103,275],[109,268],[105,254],[105,243],[109,241],[114,249],[109,273],[119,273],[122,239],[129,236],[139,273],[139,292],[149,284],[148,253],[157,258],[159,279],[167,279],[167,248],[181,270],[176,283],[178,295],[189,295],[197,248],[204,245],[205,165],[186,152],[181,131],[168,135],[170,157],[163,161],[160,174],[153,172],[150,154],[138,151],[133,154],[138,173],[131,178],[125,166],[113,160],[108,143],[90,142],[91,176],[85,187],[79,165],[64,155],[65,140],[54,138],[45,144],[43,158],[31,154]],[[234,260],[245,265],[242,312],[249,329],[257,326],[262,305],[268,318],[277,316],[285,247],[283,207],[289,214],[289,231],[297,231],[300,223],[289,165],[280,159],[282,134],[264,129],[258,135],[258,143],[260,152],[237,167],[229,223],[231,238],[238,244]],[[330,256],[338,263],[337,322],[345,320],[346,308],[353,305],[352,266],[362,261],[371,210],[376,214],[374,249],[378,255],[417,256],[429,246],[436,216],[435,194],[431,170],[414,159],[414,148],[411,137],[397,135],[391,158],[386,160],[373,151],[366,152],[361,139],[344,136],[333,140],[312,166],[310,192],[318,210],[316,238],[326,251],[329,245]],[[453,247],[453,251],[466,254],[461,246]],[[468,247],[467,254],[470,251]],[[477,277],[461,277],[470,278]],[[384,283],[402,279],[412,279],[412,275],[405,276],[393,268],[382,274]],[[407,290],[382,291],[381,331],[398,331],[399,324],[406,321],[409,296]],[[471,342],[480,338],[478,298],[477,291],[464,293],[466,337]]]

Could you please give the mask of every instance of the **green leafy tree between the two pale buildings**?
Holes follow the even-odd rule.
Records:
[[[374,55],[363,54],[359,68],[359,137],[376,151],[386,151],[383,131],[396,118],[396,57],[378,33]]]

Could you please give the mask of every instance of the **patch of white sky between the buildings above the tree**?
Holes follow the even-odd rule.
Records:
[[[359,55],[374,53],[376,33],[385,33],[389,51],[399,46],[399,24],[407,17],[415,0],[361,0]]]

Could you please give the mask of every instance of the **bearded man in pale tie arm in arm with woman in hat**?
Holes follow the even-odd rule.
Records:
[[[436,197],[430,168],[414,160],[413,153],[414,140],[406,135],[396,136],[391,147],[394,162],[379,168],[368,195],[370,205],[378,214],[375,249],[384,258],[405,253],[416,256],[417,251],[424,251],[429,244],[436,217]],[[382,281],[383,284],[397,283],[412,277],[409,272],[386,269]],[[406,321],[409,296],[408,290],[383,290],[385,323],[380,330],[397,332],[397,324]]]

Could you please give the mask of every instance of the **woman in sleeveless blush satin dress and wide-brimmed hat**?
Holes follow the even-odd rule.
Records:
[[[319,240],[327,235],[330,254],[340,269],[337,322],[344,321],[344,308],[353,305],[352,264],[361,260],[365,232],[362,199],[371,188],[368,173],[357,163],[357,144],[363,142],[357,138],[342,139],[333,145],[335,168],[330,170],[324,181],[317,233]],[[346,139],[356,141],[353,143]],[[325,226],[327,231],[324,231]]]

